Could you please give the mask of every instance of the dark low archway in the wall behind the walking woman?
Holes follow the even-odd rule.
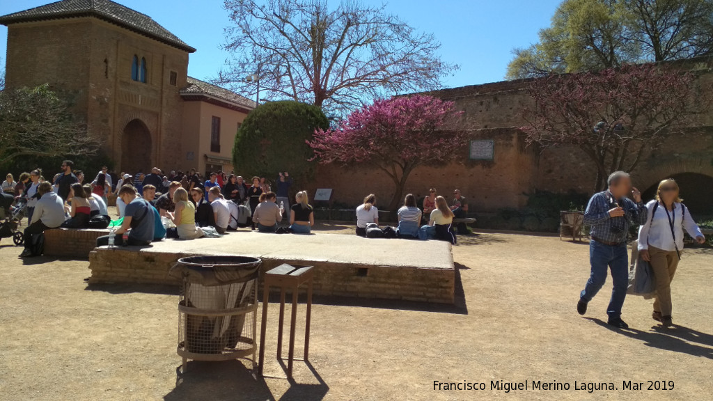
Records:
[[[681,198],[694,217],[713,215],[713,177],[699,173],[678,173],[670,176],[681,188]],[[651,200],[656,196],[659,183],[644,191],[642,198]]]

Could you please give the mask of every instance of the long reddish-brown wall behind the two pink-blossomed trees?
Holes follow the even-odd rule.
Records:
[[[680,64],[696,71],[699,86],[712,88],[713,58]],[[526,146],[519,127],[525,126],[522,110],[531,103],[527,93],[529,82],[503,81],[429,93],[455,102],[455,108],[464,112],[461,128],[471,130],[476,138],[495,141],[494,160],[468,161],[468,149],[464,147],[451,163],[417,168],[411,173],[405,193],[414,193],[420,198],[426,196],[430,187],[435,187],[439,195],[450,199],[453,189],[459,188],[475,212],[523,208],[528,199],[526,194],[538,190],[593,193],[597,171],[578,148],[563,146],[538,153]],[[713,110],[697,116],[692,126],[697,125],[701,126],[697,131],[684,138],[671,138],[655,151],[644,154],[632,173],[635,186],[645,191],[663,178],[678,173],[713,177]],[[334,200],[349,205],[361,203],[364,196],[375,193],[379,206],[385,207],[394,193],[394,183],[389,176],[378,169],[360,166],[319,166],[317,178],[307,189],[316,188],[333,188]],[[682,188],[684,196],[686,191],[695,190]]]

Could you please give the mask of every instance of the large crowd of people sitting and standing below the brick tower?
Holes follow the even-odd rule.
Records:
[[[24,203],[28,218],[21,257],[34,255],[34,238],[50,228],[112,225],[113,235],[98,238],[99,246],[148,245],[163,238],[224,235],[247,227],[265,233],[309,234],[314,225],[307,191],[298,192],[290,205],[293,181],[287,171],[277,177],[277,192],[264,177],[253,177],[248,185],[241,176],[217,171],[204,181],[194,169],[166,176],[160,168],[153,168],[148,174],[116,176],[103,166],[91,183],[83,181],[84,173],[72,161],[63,161],[61,173],[51,181],[39,170],[22,173],[18,181],[11,174],[6,176],[2,193]],[[113,222],[108,212],[110,193],[116,195],[119,218]],[[280,227],[283,221],[289,225]]]

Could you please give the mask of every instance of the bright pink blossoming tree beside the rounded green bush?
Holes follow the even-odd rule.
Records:
[[[442,165],[466,148],[468,134],[453,129],[461,113],[430,96],[377,100],[354,111],[339,127],[318,130],[308,141],[319,163],[379,168],[394,181],[389,210],[396,210],[409,175],[421,165]]]

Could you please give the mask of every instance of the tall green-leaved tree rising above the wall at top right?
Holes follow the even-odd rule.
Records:
[[[506,78],[711,54],[713,0],[565,0],[539,36],[513,51]]]

